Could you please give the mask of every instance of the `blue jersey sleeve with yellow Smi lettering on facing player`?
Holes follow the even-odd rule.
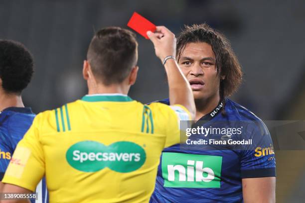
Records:
[[[263,121],[247,128],[247,139],[252,144],[242,151],[241,178],[262,178],[276,176],[276,162],[273,142]]]

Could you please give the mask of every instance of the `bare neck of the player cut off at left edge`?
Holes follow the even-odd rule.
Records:
[[[24,107],[21,96],[0,91],[0,111],[8,107]]]

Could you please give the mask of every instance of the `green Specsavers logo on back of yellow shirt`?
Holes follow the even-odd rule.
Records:
[[[105,146],[95,141],[82,141],[68,149],[66,159],[70,166],[83,172],[96,172],[108,167],[128,173],[143,166],[146,153],[133,142],[122,141]]]

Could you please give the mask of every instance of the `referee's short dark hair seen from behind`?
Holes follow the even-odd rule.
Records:
[[[120,27],[95,33],[87,52],[94,77],[104,85],[120,84],[138,62],[136,35]]]

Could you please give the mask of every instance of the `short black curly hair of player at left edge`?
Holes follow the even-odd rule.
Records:
[[[33,57],[23,44],[0,40],[0,78],[6,93],[20,95],[33,75]]]

